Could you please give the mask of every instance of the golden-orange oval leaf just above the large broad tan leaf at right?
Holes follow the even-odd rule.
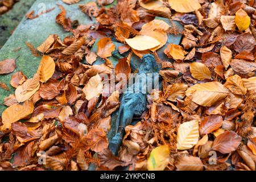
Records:
[[[191,63],[190,72],[192,77],[196,78],[197,80],[210,80],[212,78],[209,68],[203,63]]]

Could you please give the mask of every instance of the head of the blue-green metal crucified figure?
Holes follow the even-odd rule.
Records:
[[[152,73],[156,71],[158,71],[158,65],[155,62],[155,57],[149,53],[144,55],[139,66],[139,72]]]

